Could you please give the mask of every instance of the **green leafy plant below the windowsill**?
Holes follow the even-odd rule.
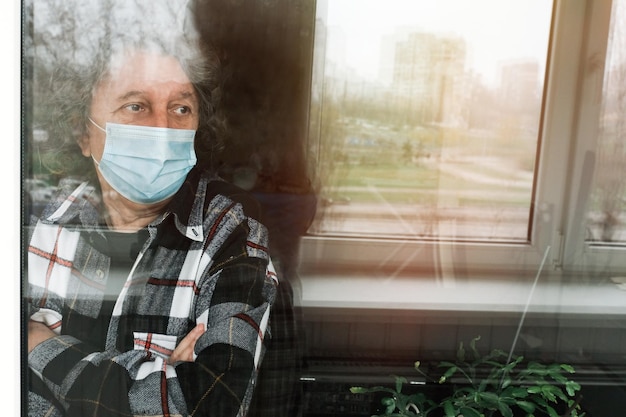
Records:
[[[402,417],[513,417],[549,416],[583,417],[578,404],[580,385],[568,378],[574,368],[567,364],[524,362],[522,356],[507,356],[494,349],[480,355],[474,338],[466,352],[463,343],[457,351],[456,362],[439,362],[441,375],[433,379],[415,369],[428,381],[446,384],[451,394],[434,401],[423,393],[402,391],[406,378],[394,376],[395,387],[352,387],[352,393],[383,393],[383,414]],[[559,411],[557,411],[559,410]]]

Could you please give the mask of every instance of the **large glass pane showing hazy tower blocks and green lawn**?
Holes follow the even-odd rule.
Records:
[[[527,241],[551,13],[545,0],[319,7],[310,231]]]

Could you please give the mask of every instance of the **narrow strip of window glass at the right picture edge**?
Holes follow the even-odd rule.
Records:
[[[626,2],[613,1],[596,149],[596,172],[587,216],[588,239],[626,243]]]

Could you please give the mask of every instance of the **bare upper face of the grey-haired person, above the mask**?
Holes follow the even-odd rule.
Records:
[[[90,117],[102,128],[111,122],[196,130],[198,112],[197,94],[178,60],[139,52],[114,60],[94,90]],[[99,161],[105,133],[93,125],[87,129],[80,147]]]

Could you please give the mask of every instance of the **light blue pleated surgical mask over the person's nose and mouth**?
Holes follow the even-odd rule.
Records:
[[[161,202],[183,185],[196,164],[196,131],[107,123],[102,177],[119,194],[141,204]],[[93,157],[93,156],[92,156]]]

